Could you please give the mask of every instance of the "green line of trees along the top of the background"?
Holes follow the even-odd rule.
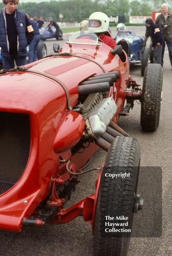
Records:
[[[18,9],[28,13],[30,17],[52,17],[55,21],[63,22],[80,22],[94,11],[102,11],[108,16],[122,15],[127,21],[129,16],[151,16],[152,11],[161,10],[162,2],[164,0],[151,0],[151,3],[150,0],[52,0],[19,3]],[[172,6],[170,0],[166,2],[169,7]],[[0,8],[3,7],[3,3],[0,3]],[[63,15],[62,20],[59,18],[60,13]]]

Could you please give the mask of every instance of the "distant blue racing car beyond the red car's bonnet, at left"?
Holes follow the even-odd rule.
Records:
[[[43,41],[50,38],[56,38],[57,40],[59,40],[59,38],[62,38],[63,36],[63,32],[59,30],[59,37],[56,37],[56,28],[54,27],[52,28],[42,27],[41,29],[39,29],[39,33],[40,33],[40,40],[43,40]]]

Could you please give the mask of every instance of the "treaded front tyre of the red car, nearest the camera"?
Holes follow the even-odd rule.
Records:
[[[131,213],[133,211],[134,192],[136,192],[138,178],[138,173],[136,173],[136,168],[134,167],[139,166],[140,155],[140,145],[136,139],[131,137],[116,137],[111,144],[105,166],[111,167],[109,169],[111,173],[116,172],[116,168],[112,169],[114,166],[125,167],[124,171],[126,171],[127,167],[130,177],[120,179],[116,183],[102,174],[100,183],[101,196],[99,190],[94,224],[94,256],[127,256],[130,238],[106,238],[102,236],[102,232],[104,230],[105,211],[108,210],[110,216],[115,216],[115,213],[119,211],[123,213]]]

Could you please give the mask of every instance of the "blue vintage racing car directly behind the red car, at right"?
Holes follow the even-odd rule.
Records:
[[[120,31],[117,33],[115,40],[118,45],[127,53],[130,64],[141,64],[141,74],[144,75],[145,67],[149,62],[153,63],[152,51],[145,47],[145,38],[142,35],[135,34],[129,31]]]

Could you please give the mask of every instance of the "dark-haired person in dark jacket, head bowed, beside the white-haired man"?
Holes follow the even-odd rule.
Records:
[[[162,36],[158,25],[153,23],[151,18],[146,19],[146,27],[149,28],[150,37],[152,38],[152,50],[154,51],[154,62],[157,64],[162,63],[162,49],[165,41]]]

